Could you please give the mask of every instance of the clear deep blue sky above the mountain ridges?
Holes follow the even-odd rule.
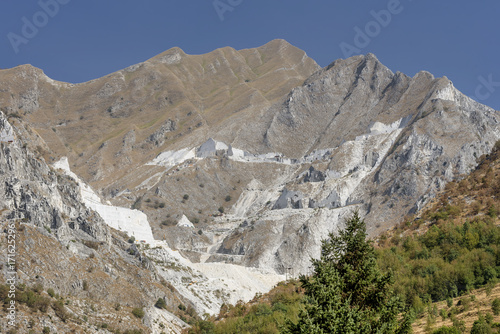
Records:
[[[350,45],[394,72],[446,75],[500,110],[498,0],[2,0],[0,9],[0,68],[29,63],[56,80],[95,79],[173,46],[200,54],[283,38],[321,66]],[[377,21],[381,10],[389,16]],[[356,39],[356,27],[369,35]]]

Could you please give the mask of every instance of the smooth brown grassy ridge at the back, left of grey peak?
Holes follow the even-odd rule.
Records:
[[[108,185],[161,147],[231,141],[250,122],[318,69],[283,40],[206,55],[172,48],[141,64],[82,84],[56,82],[29,65],[2,70],[4,112],[25,113],[57,157],[68,156],[92,185]]]

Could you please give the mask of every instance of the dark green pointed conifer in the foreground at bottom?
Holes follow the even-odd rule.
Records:
[[[380,272],[358,212],[338,236],[323,240],[321,258],[312,264],[314,274],[300,278],[308,302],[282,333],[411,333],[412,316],[405,312],[401,319],[392,274]]]

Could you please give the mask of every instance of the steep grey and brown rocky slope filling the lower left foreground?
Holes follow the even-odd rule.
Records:
[[[185,324],[165,310],[155,310],[153,305],[158,298],[164,298],[169,309],[175,310],[186,301],[125,241],[126,235],[111,230],[99,214],[85,206],[74,179],[48,166],[39,153],[31,151],[43,151],[43,140],[24,122],[7,120],[2,112],[0,132],[13,135],[13,140],[9,137],[0,142],[0,215],[2,230],[7,224],[16,227],[16,284],[51,288],[73,303],[66,307],[71,319],[67,322],[55,315],[49,321],[50,310],[34,316],[18,303],[18,329],[41,332],[43,327],[49,327],[61,333],[92,329],[99,326],[99,321],[114,328],[147,329],[130,318],[130,310],[126,311],[144,307],[150,322],[160,319],[172,331],[180,332]],[[5,239],[2,235],[2,263],[7,263]],[[13,277],[12,271],[2,266],[2,282]],[[79,326],[78,319],[87,314],[91,303],[99,303],[105,314],[95,312],[88,316],[88,326]],[[123,306],[120,312],[113,306],[118,304]],[[130,322],[121,324],[117,321],[120,317]],[[7,331],[4,326],[2,322],[2,332]]]

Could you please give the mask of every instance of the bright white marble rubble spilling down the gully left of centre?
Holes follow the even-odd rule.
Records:
[[[153,247],[145,250],[148,256],[155,260],[162,276],[196,305],[199,314],[216,314],[224,303],[249,301],[256,293],[265,293],[285,279],[272,270],[224,263],[192,263],[164,241],[154,239],[147,217],[141,211],[102,204],[99,196],[71,171],[66,157],[56,162],[54,168],[62,169],[79,184],[84,203],[99,213],[109,226]],[[186,216],[177,225],[194,228]],[[148,312],[153,319],[166,317],[156,311]],[[174,327],[179,328],[178,324]]]

